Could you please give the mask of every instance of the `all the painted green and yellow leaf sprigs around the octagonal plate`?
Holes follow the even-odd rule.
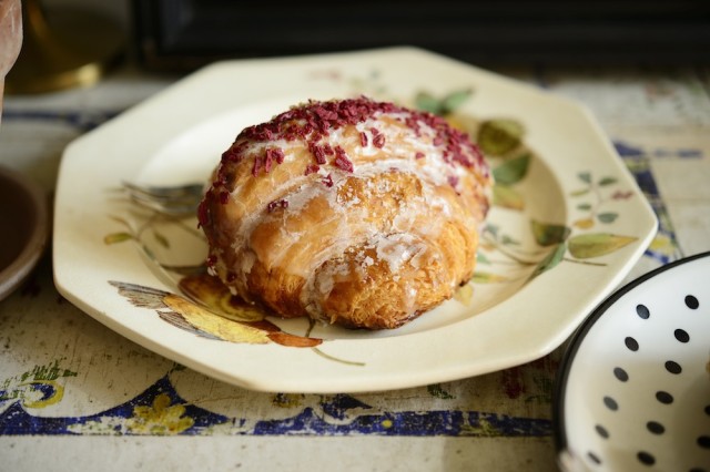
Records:
[[[518,189],[518,184],[527,177],[531,160],[538,158],[525,144],[525,127],[514,119],[494,119],[476,121],[469,115],[457,113],[457,109],[468,101],[470,91],[453,91],[437,99],[428,92],[418,93],[414,103],[419,110],[446,117],[453,126],[467,132],[478,143],[493,166],[496,185],[493,205],[511,212],[523,212],[529,196]],[[510,283],[510,264],[527,270],[525,281],[529,281],[555,268],[561,261],[604,265],[595,259],[637,240],[633,236],[617,235],[608,232],[590,232],[597,224],[608,225],[620,215],[613,202],[632,197],[632,193],[616,188],[617,178],[602,176],[595,178],[591,172],[578,173],[580,188],[570,197],[579,199],[577,209],[581,216],[571,227],[531,219],[529,230],[535,240],[535,254],[520,248],[521,235],[506,233],[505,227],[489,223],[484,228],[478,255],[479,265],[469,284],[462,286],[455,299],[470,306],[474,301],[475,285]],[[611,192],[611,193],[610,193]],[[219,279],[206,274],[204,265],[172,266],[162,263],[155,256],[156,250],[146,242],[166,252],[171,250],[170,238],[161,230],[161,225],[178,227],[187,235],[201,238],[192,222],[174,217],[159,211],[148,213],[136,227],[124,217],[113,216],[124,226],[124,230],[104,237],[106,245],[123,242],[138,244],[145,260],[159,270],[176,274],[176,287],[182,295],[150,288],[141,285],[111,280],[119,293],[139,308],[149,308],[158,312],[170,325],[210,339],[261,345],[276,342],[287,347],[315,348],[323,339],[310,337],[313,321],[304,336],[284,332],[276,324],[267,320],[268,314],[233,296]],[[193,216],[186,219],[194,219]],[[577,233],[572,234],[572,229]],[[507,261],[496,261],[503,256]],[[508,269],[501,273],[500,267]],[[498,271],[496,271],[498,268]],[[489,270],[490,269],[490,270]],[[323,353],[316,349],[317,352]]]

